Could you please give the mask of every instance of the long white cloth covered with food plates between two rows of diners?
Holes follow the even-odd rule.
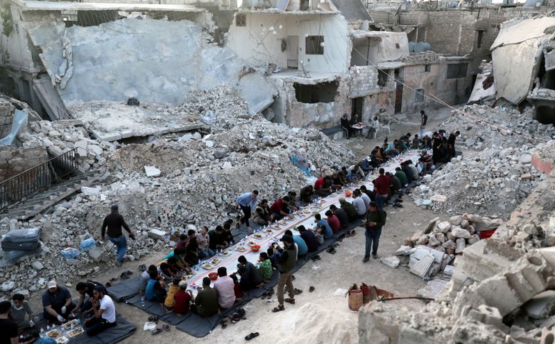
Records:
[[[402,163],[402,161],[407,161],[407,160],[416,161],[417,160],[416,158],[418,157],[418,155],[419,155],[419,151],[412,150],[405,154],[396,156],[393,159],[390,159],[388,163],[382,167],[384,168],[384,170],[386,170],[386,172],[395,172],[395,168],[397,168]],[[368,174],[368,176],[366,176],[366,179],[364,179],[364,181],[353,183],[353,185],[351,185],[349,188],[354,190],[355,188],[359,188],[361,185],[366,185],[366,188],[368,188],[368,190],[373,190],[372,181],[376,179],[378,175],[379,174],[377,171],[375,171],[373,174]],[[347,201],[352,201],[352,197],[345,197],[344,190],[334,192],[330,196],[327,196],[314,203],[311,203],[309,206],[302,208],[298,212],[291,214],[294,216],[293,219],[286,219],[286,218],[282,219],[282,221],[287,221],[287,224],[284,224],[284,225],[279,224],[280,228],[275,228],[275,224],[272,226],[267,226],[266,228],[270,228],[271,230],[273,230],[273,233],[268,235],[264,235],[264,233],[262,233],[263,237],[261,239],[256,239],[255,237],[253,237],[254,233],[251,235],[248,235],[244,239],[241,239],[240,242],[238,242],[237,244],[235,244],[234,246],[226,250],[226,251],[230,251],[231,255],[227,257],[214,256],[220,259],[221,262],[216,264],[212,269],[206,270],[206,269],[200,268],[199,271],[195,271],[194,275],[192,275],[187,280],[189,287],[191,287],[191,289],[193,290],[193,293],[196,295],[196,287],[202,286],[203,278],[207,277],[208,274],[211,272],[216,272],[220,266],[225,266],[225,268],[228,270],[228,274],[236,271],[237,263],[238,263],[237,259],[241,255],[244,255],[249,262],[253,262],[254,264],[258,260],[259,253],[266,252],[268,247],[271,244],[273,244],[273,242],[278,242],[286,230],[288,229],[291,230],[294,235],[296,233],[298,234],[296,230],[293,230],[293,228],[296,228],[297,226],[303,225],[306,228],[313,227],[314,221],[312,221],[312,219],[314,215],[312,215],[312,212],[314,211],[325,212],[325,210],[330,208],[332,204],[339,202],[339,199],[341,197],[345,198],[345,200]],[[310,210],[307,213],[302,211],[307,209]],[[323,218],[325,217],[323,216]],[[247,244],[250,241],[256,242],[258,245],[261,246],[258,252],[251,251],[250,245]],[[237,248],[237,246],[246,247],[246,251],[241,251],[241,252],[236,251],[235,248]],[[209,258],[208,260],[206,260],[206,262],[210,262],[212,259],[214,259],[214,257]]]

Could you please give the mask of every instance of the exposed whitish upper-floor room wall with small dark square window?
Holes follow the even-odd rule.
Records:
[[[237,15],[246,16],[244,26],[237,26]],[[287,46],[292,44],[288,38],[296,39],[298,69],[302,61],[309,72],[347,73],[351,44],[347,34],[347,22],[341,15],[237,12],[226,46],[254,66],[275,63],[287,69]],[[323,55],[307,55],[307,36],[323,36]]]

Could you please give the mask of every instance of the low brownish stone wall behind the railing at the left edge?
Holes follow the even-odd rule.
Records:
[[[44,147],[0,146],[0,180],[4,181],[46,160],[48,154]]]

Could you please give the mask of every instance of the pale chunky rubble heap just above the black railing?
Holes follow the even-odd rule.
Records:
[[[105,151],[116,149],[114,145],[91,138],[79,120],[39,120],[29,123],[17,136],[24,148],[45,147],[51,157],[77,148],[80,170],[99,168],[105,163]]]

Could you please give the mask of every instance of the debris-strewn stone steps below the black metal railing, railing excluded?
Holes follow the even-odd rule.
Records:
[[[37,215],[39,212],[53,206],[62,199],[69,197],[83,186],[92,184],[102,172],[99,170],[79,173],[60,183],[53,185],[48,190],[44,190],[33,197],[26,199],[13,208],[8,208],[0,212],[0,219],[8,217],[10,219],[26,220]]]

